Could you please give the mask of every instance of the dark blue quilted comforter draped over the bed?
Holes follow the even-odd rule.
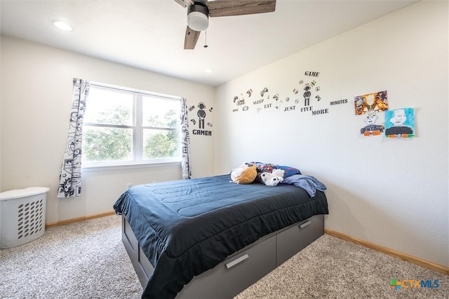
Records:
[[[135,186],[114,204],[154,272],[142,298],[175,298],[195,275],[260,237],[316,214],[326,195],[293,185],[240,185],[229,175]]]

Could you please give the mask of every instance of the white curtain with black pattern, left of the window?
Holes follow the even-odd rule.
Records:
[[[72,111],[69,132],[62,161],[58,197],[81,195],[81,154],[83,137],[83,117],[91,83],[74,78]]]

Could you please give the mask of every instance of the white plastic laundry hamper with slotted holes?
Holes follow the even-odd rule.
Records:
[[[0,249],[43,236],[48,190],[30,187],[0,193]]]

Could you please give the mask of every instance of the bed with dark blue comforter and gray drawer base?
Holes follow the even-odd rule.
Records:
[[[223,175],[128,189],[114,210],[142,298],[232,298],[323,235],[325,193],[297,186]]]

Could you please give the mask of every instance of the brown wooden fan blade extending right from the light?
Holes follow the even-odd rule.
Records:
[[[276,0],[215,0],[208,2],[208,8],[210,17],[271,13],[276,9]]]

